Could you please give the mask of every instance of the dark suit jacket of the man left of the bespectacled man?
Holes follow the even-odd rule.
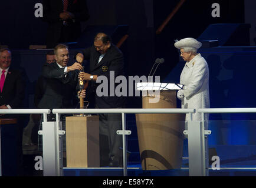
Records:
[[[64,75],[64,68],[57,63],[45,63],[42,66],[42,76],[45,78],[45,91],[38,104],[41,109],[75,108],[77,98],[78,71],[70,71]]]

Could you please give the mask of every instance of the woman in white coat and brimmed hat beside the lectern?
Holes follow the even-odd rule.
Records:
[[[205,59],[197,53],[202,43],[193,38],[185,38],[174,45],[180,49],[180,56],[186,61],[180,75],[180,83],[185,86],[177,93],[177,97],[182,101],[182,108],[209,108],[209,69]],[[204,120],[208,119],[209,115],[205,114]],[[188,114],[186,120],[190,120]],[[202,120],[201,113],[193,114],[192,120]]]

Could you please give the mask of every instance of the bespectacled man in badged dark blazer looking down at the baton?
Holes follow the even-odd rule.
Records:
[[[77,62],[83,62],[84,59],[90,60],[90,73],[80,73],[78,78],[90,80],[90,88],[88,92],[93,92],[95,98],[95,108],[123,108],[124,97],[110,95],[114,94],[114,90],[110,90],[110,83],[108,84],[108,95],[98,96],[96,93],[96,83],[98,76],[106,76],[108,82],[110,81],[110,71],[114,72],[114,76],[124,75],[123,53],[111,43],[111,39],[105,33],[97,33],[94,38],[94,46],[86,48],[81,53],[76,55]],[[110,93],[109,93],[110,92]],[[87,95],[90,95],[90,93]],[[116,131],[122,129],[122,116],[120,114],[99,114],[100,119],[100,165],[105,166],[106,157],[109,166],[119,166],[120,151],[122,146],[122,136],[117,135]],[[107,155],[106,142],[104,137],[107,136],[109,142],[109,151]]]

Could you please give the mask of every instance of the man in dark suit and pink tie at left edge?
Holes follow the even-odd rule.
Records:
[[[11,51],[0,49],[0,109],[22,108],[25,95],[24,76],[19,70],[10,68]],[[22,175],[22,129],[21,116],[1,115],[15,118],[15,125],[1,125],[2,170],[4,176]]]

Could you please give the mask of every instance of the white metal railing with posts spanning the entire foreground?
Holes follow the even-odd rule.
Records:
[[[121,113],[122,130],[117,130],[117,134],[122,135],[123,139],[123,175],[127,176],[127,153],[126,153],[126,135],[130,135],[130,130],[126,130],[126,113],[189,113],[188,134],[189,147],[189,176],[207,176],[208,175],[208,138],[211,134],[207,123],[204,120],[204,113],[256,113],[256,108],[216,108],[216,109],[53,109],[52,113],[56,115],[56,122],[47,122],[47,114],[50,109],[0,109],[0,114],[42,114],[43,129],[38,133],[43,135],[43,160],[44,176],[62,176],[60,135],[65,132],[61,130],[61,114],[68,113]],[[202,121],[192,120],[193,113],[202,113]],[[53,126],[52,126],[53,125]],[[207,136],[206,136],[207,137]],[[53,144],[54,143],[54,144]],[[0,140],[1,152],[1,140]],[[1,154],[1,153],[0,153]],[[1,175],[1,155],[0,155],[0,175]]]

